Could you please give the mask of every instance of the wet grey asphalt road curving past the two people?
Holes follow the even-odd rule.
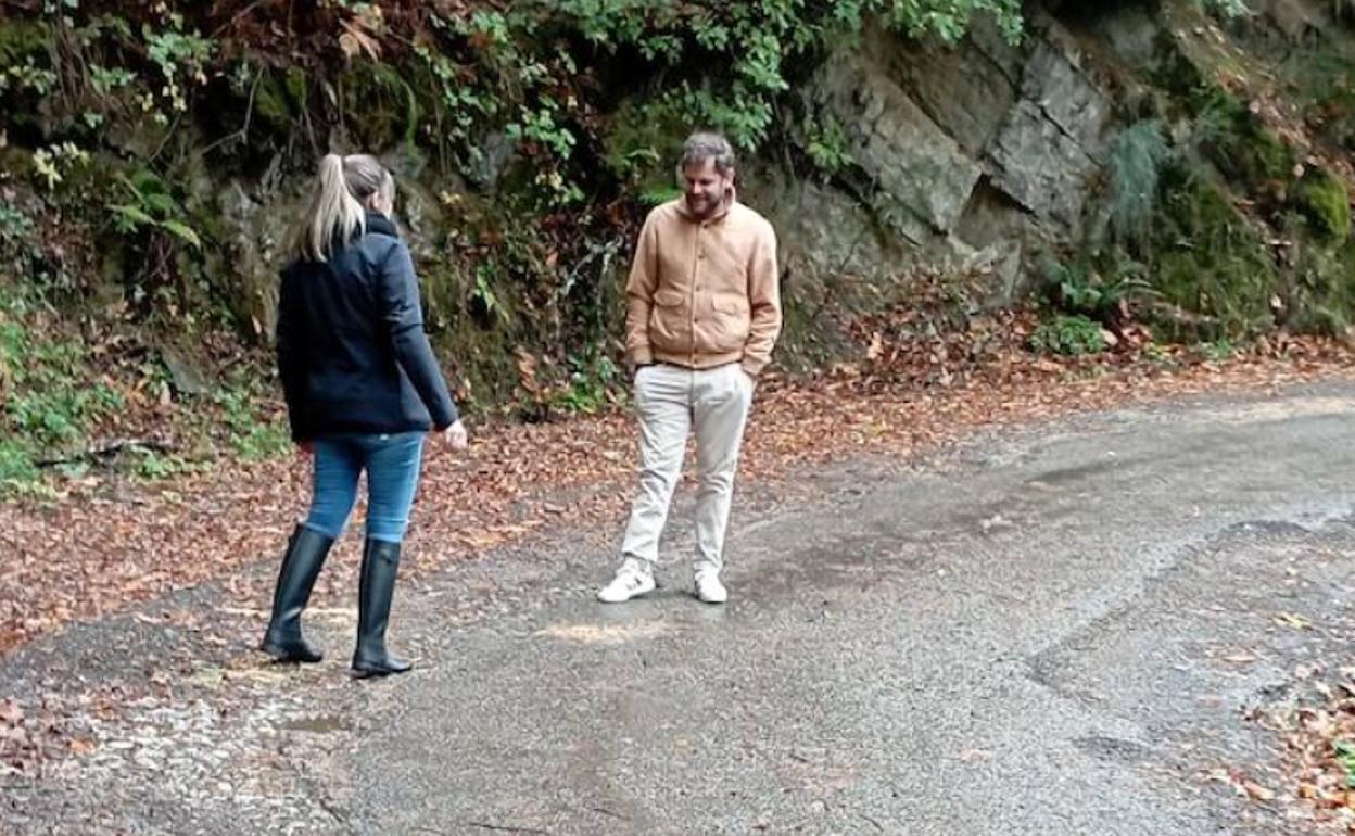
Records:
[[[1270,775],[1245,714],[1355,634],[1352,438],[1324,385],[748,485],[725,607],[691,596],[690,497],[629,604],[592,599],[619,532],[561,534],[402,593],[417,672],[199,671],[0,793],[0,832],[1299,833],[1207,775]],[[351,612],[316,623],[347,646]],[[169,641],[138,625],[0,676],[98,682]]]

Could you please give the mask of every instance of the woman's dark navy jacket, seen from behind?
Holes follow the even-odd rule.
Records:
[[[413,259],[385,215],[369,213],[366,233],[328,262],[282,271],[278,370],[298,442],[457,421],[423,329]]]

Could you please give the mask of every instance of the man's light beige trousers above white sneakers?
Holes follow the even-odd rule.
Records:
[[[652,572],[668,504],[682,476],[687,436],[696,434],[696,573],[724,566],[725,528],[734,495],[738,448],[753,400],[753,379],[730,363],[692,370],[645,366],[635,375],[640,416],[640,492],[630,511],[622,554]]]

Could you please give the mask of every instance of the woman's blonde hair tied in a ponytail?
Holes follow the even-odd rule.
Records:
[[[394,192],[390,172],[367,154],[325,154],[297,234],[297,257],[327,262],[336,243],[367,230],[363,201],[375,192]]]

